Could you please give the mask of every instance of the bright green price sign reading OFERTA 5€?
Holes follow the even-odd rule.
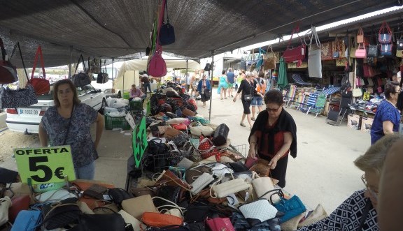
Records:
[[[76,179],[70,146],[14,149],[15,161],[21,181],[31,184],[47,184]]]

